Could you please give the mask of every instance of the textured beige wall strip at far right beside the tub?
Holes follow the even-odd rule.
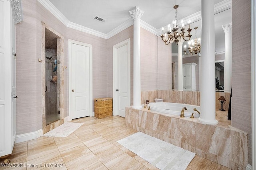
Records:
[[[252,164],[250,5],[250,0],[232,0],[231,125],[243,131],[246,131],[249,134],[248,162],[249,164]]]

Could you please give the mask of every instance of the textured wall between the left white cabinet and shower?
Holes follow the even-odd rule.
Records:
[[[42,129],[41,43],[37,2],[22,1],[23,21],[16,25],[17,135]],[[41,25],[41,24],[40,24]],[[41,35],[40,35],[41,37]]]

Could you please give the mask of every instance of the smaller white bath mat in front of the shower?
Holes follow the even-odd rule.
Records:
[[[78,127],[80,127],[83,123],[72,123],[66,122],[51,131],[45,133],[42,136],[45,137],[67,137],[71,133],[73,133]]]

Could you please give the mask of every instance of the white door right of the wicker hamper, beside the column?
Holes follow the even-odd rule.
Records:
[[[128,39],[129,41],[130,39]],[[130,42],[130,41],[129,41]],[[119,44],[120,45],[120,44]],[[122,45],[122,44],[121,44]],[[130,106],[130,43],[114,50],[114,113],[125,117],[125,107]]]

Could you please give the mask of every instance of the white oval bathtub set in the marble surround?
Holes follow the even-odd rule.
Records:
[[[191,104],[180,104],[180,103],[167,103],[167,102],[157,102],[157,103],[149,103],[148,106],[151,106],[150,109],[154,111],[159,111],[162,113],[169,113],[171,115],[180,115],[180,112],[183,107],[186,107],[187,110],[184,110],[184,116],[190,117],[192,113],[194,114],[194,117],[200,117],[200,114],[197,113],[197,111],[194,111],[193,109],[196,108],[198,111],[200,111],[200,106],[191,105]]]

